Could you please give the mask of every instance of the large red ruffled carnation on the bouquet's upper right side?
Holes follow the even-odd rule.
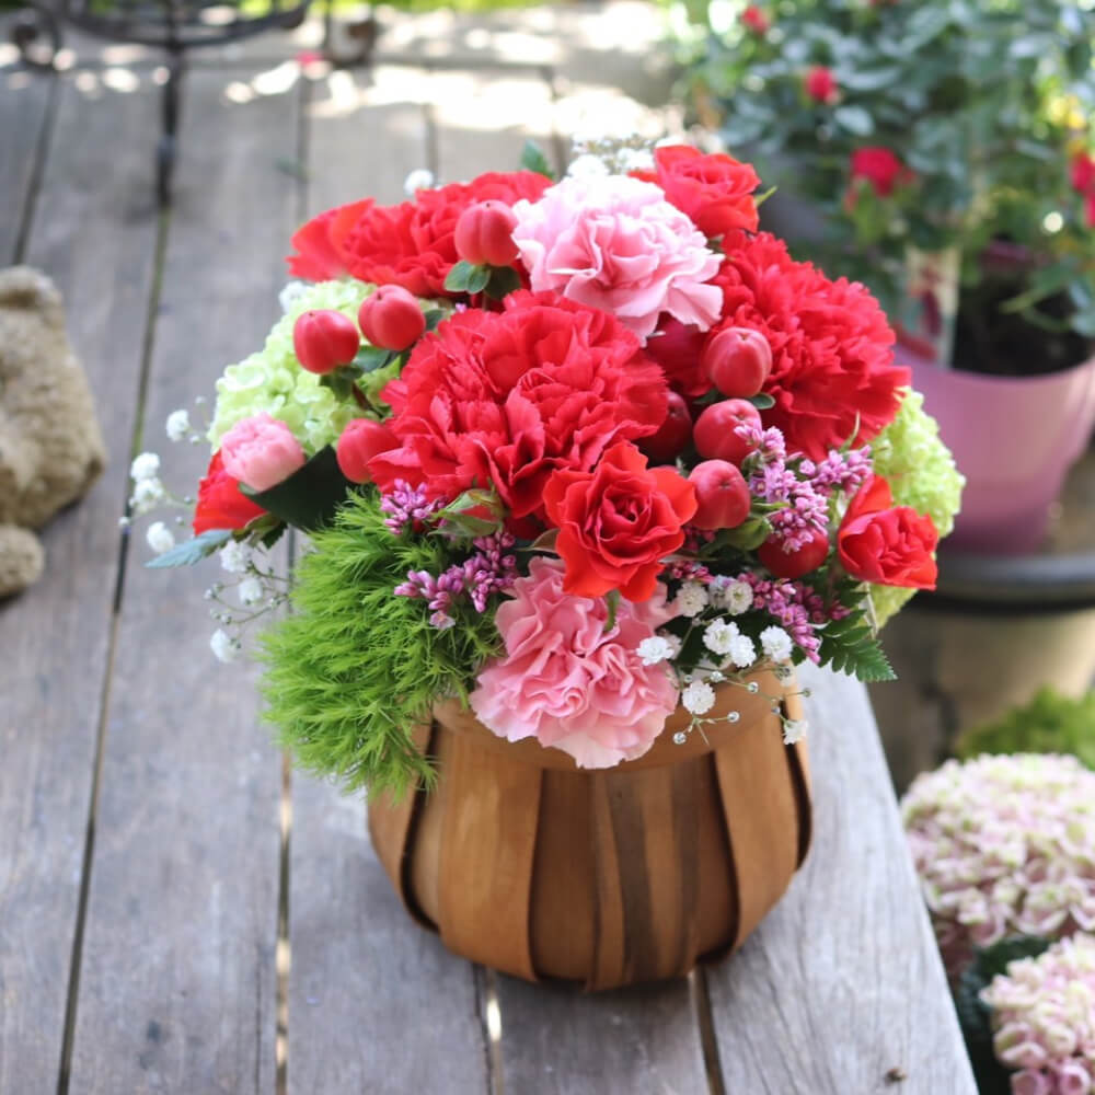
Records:
[[[858,283],[831,281],[810,263],[795,262],[768,232],[737,233],[715,278],[723,288],[721,327],[752,327],[772,348],[763,391],[775,406],[764,424],[777,426],[791,450],[812,460],[856,443],[892,422],[898,389],[909,370],[895,366],[894,332],[874,297]]]

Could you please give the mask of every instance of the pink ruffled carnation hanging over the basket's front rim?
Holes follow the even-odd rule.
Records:
[[[677,706],[665,666],[645,666],[638,644],[669,619],[665,587],[642,604],[621,601],[604,630],[603,598],[563,592],[557,560],[533,558],[495,623],[504,657],[480,673],[472,710],[500,738],[535,737],[579,768],[642,757]]]

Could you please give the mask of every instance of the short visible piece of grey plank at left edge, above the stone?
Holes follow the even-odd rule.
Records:
[[[15,261],[43,130],[49,120],[54,78],[41,72],[0,71],[0,262]]]

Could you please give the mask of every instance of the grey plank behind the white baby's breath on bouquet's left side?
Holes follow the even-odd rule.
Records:
[[[183,103],[143,445],[261,345],[278,313],[299,92],[246,105],[194,69]],[[204,446],[164,453],[193,489]],[[255,673],[221,666],[201,600],[214,564],[146,570],[129,552],[111,681],[72,1090],[273,1091],[280,756]]]

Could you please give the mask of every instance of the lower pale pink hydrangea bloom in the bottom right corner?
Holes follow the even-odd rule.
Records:
[[[992,1008],[996,1059],[1017,1070],[1013,1095],[1095,1091],[1095,936],[1008,963],[981,999]]]

